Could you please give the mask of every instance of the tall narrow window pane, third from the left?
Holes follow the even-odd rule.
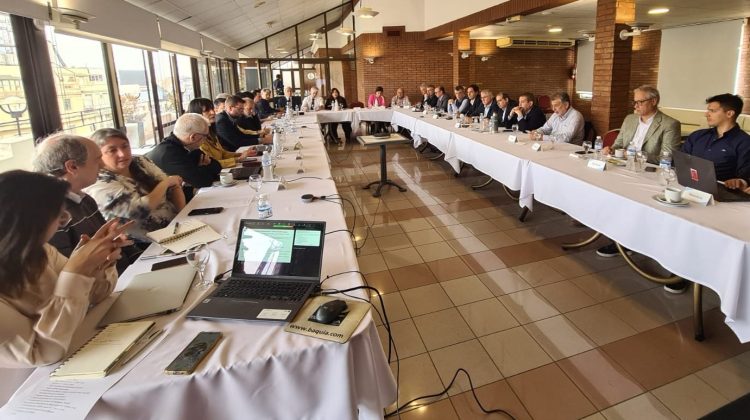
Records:
[[[147,52],[122,45],[112,46],[117,71],[120,105],[125,129],[133,148],[156,144],[153,101],[148,76]]]

